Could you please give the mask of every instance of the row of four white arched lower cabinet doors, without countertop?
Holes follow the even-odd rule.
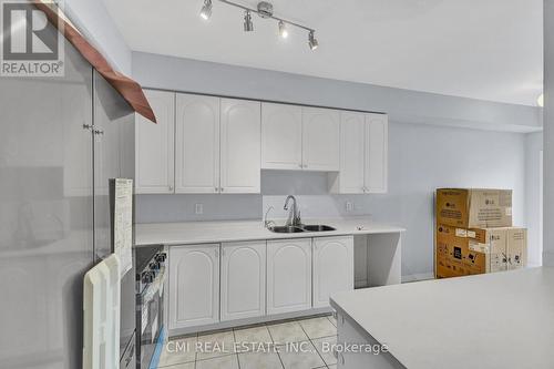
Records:
[[[170,330],[327,308],[353,289],[353,236],[171,246],[168,259]]]

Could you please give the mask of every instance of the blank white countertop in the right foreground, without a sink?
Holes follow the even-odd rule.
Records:
[[[409,369],[554,368],[554,268],[331,296]]]

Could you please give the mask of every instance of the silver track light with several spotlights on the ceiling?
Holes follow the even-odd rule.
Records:
[[[263,19],[273,19],[273,20],[278,21],[279,22],[278,23],[279,37],[281,37],[283,39],[288,38],[288,25],[296,27],[296,28],[300,28],[305,31],[308,31],[308,45],[310,47],[311,51],[316,50],[319,47],[319,42],[317,41],[316,35],[315,35],[316,30],[314,30],[309,27],[279,18],[279,17],[275,17],[274,16],[274,6],[270,2],[260,1],[260,2],[258,2],[256,9],[252,9],[252,8],[245,7],[243,4],[239,4],[239,3],[236,3],[236,2],[233,2],[229,0],[218,0],[218,1],[226,3],[227,6],[243,9],[245,11],[245,14],[244,14],[244,30],[245,30],[245,32],[254,31],[254,23],[252,21],[252,13],[256,13]],[[207,19],[209,19],[211,16],[212,16],[212,0],[204,0],[204,6],[202,7],[202,10],[201,10],[201,17],[203,19],[207,20]]]

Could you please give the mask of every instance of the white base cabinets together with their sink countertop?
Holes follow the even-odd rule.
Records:
[[[305,219],[325,232],[274,233],[259,221],[137,224],[135,247],[168,248],[170,336],[330,312],[329,295],[401,283],[402,227]]]

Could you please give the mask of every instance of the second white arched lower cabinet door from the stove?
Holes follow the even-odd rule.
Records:
[[[266,242],[222,245],[222,321],[266,314]]]

